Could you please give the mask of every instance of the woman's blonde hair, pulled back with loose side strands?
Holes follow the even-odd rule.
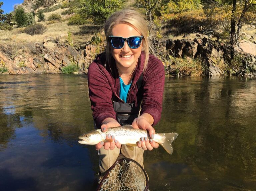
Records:
[[[142,50],[145,52],[144,70],[147,67],[149,60],[149,41],[148,41],[148,28],[147,23],[140,13],[134,10],[121,10],[113,13],[105,22],[104,32],[107,40],[106,47],[106,63],[109,64],[111,59],[111,44],[108,41],[108,37],[112,36],[112,29],[117,24],[128,24],[134,27],[143,36],[142,39]]]

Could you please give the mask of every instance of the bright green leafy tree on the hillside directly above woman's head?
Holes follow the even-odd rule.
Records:
[[[82,8],[78,10],[85,19],[92,19],[94,24],[102,25],[115,11],[124,6],[124,0],[81,0]]]

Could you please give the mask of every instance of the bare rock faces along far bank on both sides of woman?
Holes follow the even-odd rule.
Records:
[[[248,43],[248,42],[247,42]],[[157,46],[160,52],[158,57],[166,60],[168,56],[176,58],[185,58],[188,62],[191,59],[199,58],[202,67],[205,68],[204,75],[224,75],[223,65],[230,63],[230,48],[223,43],[212,41],[204,35],[196,35],[194,40],[166,40],[154,41],[154,46]],[[99,49],[99,46],[86,45],[85,48],[77,50],[70,45],[58,42],[54,38],[46,38],[43,43],[35,43],[33,54],[23,52],[17,53],[8,45],[0,46],[0,61],[5,63],[9,74],[32,74],[32,73],[61,73],[61,69],[70,64],[77,64],[80,68],[79,73],[87,73],[87,68],[99,51],[103,51],[104,47]],[[248,46],[245,46],[248,47]],[[240,59],[240,68],[237,69],[237,74],[255,75],[243,71],[242,65],[246,61],[246,69],[248,71],[256,71],[256,53],[251,52],[256,49],[256,45],[251,43],[250,48],[246,49],[239,47],[237,52],[240,53],[240,58],[245,57],[246,60]],[[248,52],[250,51],[250,52]],[[255,55],[253,54],[255,53]],[[175,63],[170,63],[175,64]],[[166,65],[169,67],[171,65]],[[221,67],[220,67],[221,66]],[[234,69],[233,69],[234,70]],[[177,71],[171,71],[170,74],[179,75]]]

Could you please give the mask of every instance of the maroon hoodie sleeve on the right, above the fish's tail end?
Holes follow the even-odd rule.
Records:
[[[161,118],[164,80],[165,71],[162,61],[150,55],[143,75],[144,93],[141,113],[150,114],[154,119],[153,125],[157,124]]]

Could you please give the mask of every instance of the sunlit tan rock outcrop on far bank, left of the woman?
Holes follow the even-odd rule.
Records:
[[[38,52],[36,55],[25,53],[14,56],[10,47],[1,46],[0,60],[5,63],[8,73],[60,73],[62,67],[70,64],[77,64],[79,73],[87,73],[87,68],[96,55],[96,48],[92,45],[78,51],[51,37],[44,39],[43,44],[36,43],[35,47]]]

